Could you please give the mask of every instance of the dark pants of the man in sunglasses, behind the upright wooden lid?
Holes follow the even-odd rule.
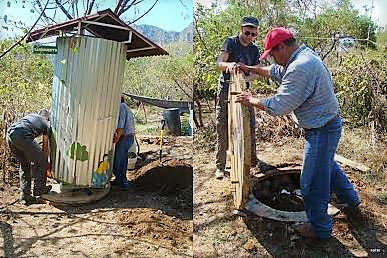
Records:
[[[228,115],[227,104],[228,99],[228,83],[220,82],[218,85],[218,96],[216,104],[216,132],[217,132],[217,149],[216,149],[216,167],[225,169],[226,166],[226,151],[228,143]],[[255,143],[255,112],[253,107],[249,107],[250,113],[250,141],[251,141],[251,162],[254,164],[257,159],[256,143]]]

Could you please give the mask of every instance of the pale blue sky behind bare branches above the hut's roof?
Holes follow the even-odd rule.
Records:
[[[154,1],[155,0],[144,0],[141,4],[138,5],[137,8],[129,9],[128,12],[126,12],[120,18],[124,21],[133,21],[134,17],[138,17],[139,13],[142,14],[148,10]],[[10,7],[7,6],[7,2],[10,2]],[[8,27],[6,24],[4,24],[4,15],[7,16],[8,21],[16,23],[23,22],[27,27],[32,26],[35,20],[38,18],[40,13],[35,10],[34,12],[31,11],[33,6],[30,2],[35,1],[24,1],[25,3],[22,2],[23,0],[0,0],[0,33],[3,35],[14,34],[12,31],[6,31],[2,27]],[[45,0],[42,0],[41,2],[42,5],[46,3]],[[79,0],[79,2],[82,3],[83,1]],[[96,0],[96,3],[98,3],[99,11],[107,8],[114,9],[116,2],[116,0]],[[82,4],[80,4],[80,8],[82,8]],[[94,10],[96,11],[97,9]],[[58,13],[62,12],[59,11]],[[162,28],[166,31],[182,31],[192,22],[192,15],[193,0],[159,0],[154,8],[135,24],[150,24]],[[62,20],[66,19],[63,14],[61,14],[59,17]],[[19,24],[17,25],[19,26]],[[39,22],[36,28],[44,26],[45,24],[43,22]]]

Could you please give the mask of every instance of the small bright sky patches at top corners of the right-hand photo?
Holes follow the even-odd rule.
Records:
[[[220,0],[222,2],[222,0]],[[210,7],[214,0],[194,0],[194,3],[201,3],[204,6]],[[351,0],[355,9],[358,9],[360,14],[365,14],[364,5],[371,7],[372,0]],[[371,20],[379,26],[387,26],[387,0],[373,0],[374,8],[372,10]],[[369,15],[370,13],[368,13]]]

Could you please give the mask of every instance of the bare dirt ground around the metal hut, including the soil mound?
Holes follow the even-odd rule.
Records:
[[[192,137],[166,138],[160,170],[157,140],[138,138],[145,159],[129,172],[131,189],[95,203],[24,206],[16,173],[1,183],[0,256],[192,257]]]

